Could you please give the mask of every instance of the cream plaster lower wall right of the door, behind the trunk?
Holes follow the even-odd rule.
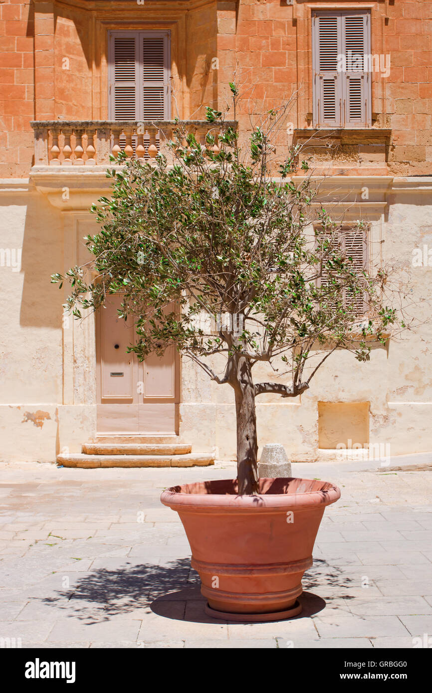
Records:
[[[320,457],[318,403],[330,402],[369,403],[371,446],[385,448],[390,444],[391,455],[431,450],[431,181],[409,179],[404,182],[400,179],[395,188],[389,198],[388,218],[375,222],[372,227],[383,261],[411,275],[409,297],[413,305],[407,317],[415,316],[417,326],[390,340],[388,349],[374,348],[370,362],[365,364],[357,362],[349,353],[335,353],[318,371],[309,391],[300,398],[286,401],[276,395],[259,396],[260,449],[266,443],[279,442],[292,459],[313,461]],[[415,188],[423,189],[415,192]],[[431,266],[413,267],[413,250],[423,249],[425,244],[431,249]],[[209,383],[202,371],[187,362],[183,362],[182,368],[182,439],[193,441],[197,449],[209,450],[214,437],[218,455],[233,459],[236,443],[231,388]],[[216,372],[223,372],[223,362],[215,361],[214,368]],[[269,379],[277,380],[272,371],[263,366],[254,369],[256,382]],[[344,416],[342,412],[340,428]],[[352,444],[361,442],[352,439]],[[345,435],[341,435],[339,441],[334,439],[335,448],[338,444],[347,444]],[[327,454],[327,459],[329,457]]]

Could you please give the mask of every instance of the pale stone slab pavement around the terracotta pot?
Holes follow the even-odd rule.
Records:
[[[205,615],[178,515],[159,502],[166,486],[234,477],[234,463],[2,464],[0,638],[42,648],[411,648],[432,635],[432,473],[360,468],[293,464],[293,475],[336,482],[342,497],[325,511],[302,613],[243,624]]]

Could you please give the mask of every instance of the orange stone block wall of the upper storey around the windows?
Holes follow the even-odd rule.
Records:
[[[238,114],[243,132],[250,129],[250,112],[258,118],[293,93],[287,121],[294,128],[310,128],[313,7],[370,7],[372,53],[390,54],[390,76],[372,74],[372,128],[391,130],[390,139],[386,146],[372,148],[374,157],[371,154],[368,161],[366,131],[358,134],[358,142],[347,142],[343,156],[354,151],[360,163],[364,159],[371,166],[379,164],[377,173],[431,175],[432,3],[294,3],[6,0],[0,4],[0,176],[28,176],[31,120],[107,117],[108,28],[171,30],[173,86],[184,118],[202,118],[204,105],[225,109],[227,84],[235,75],[243,95]],[[172,113],[176,114],[174,104]],[[281,152],[288,143],[284,130]]]

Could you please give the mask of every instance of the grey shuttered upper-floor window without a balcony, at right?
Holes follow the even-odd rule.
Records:
[[[371,124],[370,13],[316,11],[312,17],[313,124]]]

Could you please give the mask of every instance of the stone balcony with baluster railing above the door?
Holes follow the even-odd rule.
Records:
[[[155,161],[160,152],[170,164],[173,152],[166,143],[173,132],[193,133],[206,148],[218,151],[218,137],[225,128],[236,128],[234,121],[33,121],[35,159],[30,177],[37,190],[63,211],[85,210],[105,195],[112,181],[106,170],[115,166],[110,155],[124,151],[128,157]],[[206,141],[207,134],[214,143]]]

